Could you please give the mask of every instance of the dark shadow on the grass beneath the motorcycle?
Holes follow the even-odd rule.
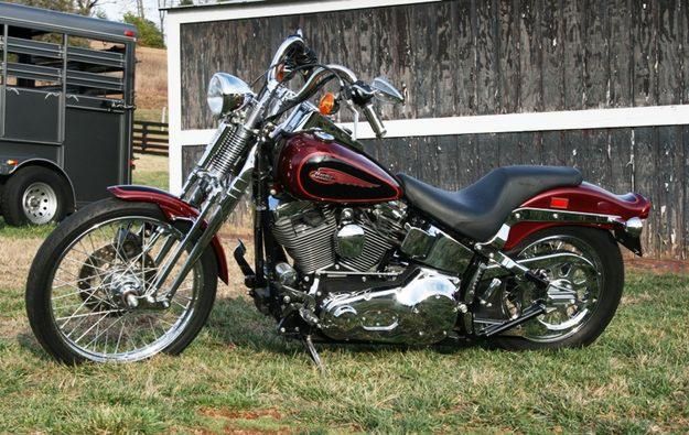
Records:
[[[244,297],[217,300],[206,327],[214,339],[237,347],[282,355],[293,355],[294,351],[304,349],[299,340],[279,335],[276,320],[263,316],[251,301]],[[429,348],[439,354],[454,354],[482,346],[478,341],[467,340],[446,340],[433,346],[329,342],[315,339],[314,341],[319,349],[337,349],[351,355],[377,354],[383,350],[417,351]]]

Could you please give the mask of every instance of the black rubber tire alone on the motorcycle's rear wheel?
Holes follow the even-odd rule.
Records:
[[[591,345],[605,330],[613,319],[624,287],[624,263],[617,242],[610,231],[589,227],[556,227],[531,235],[509,252],[513,258],[524,254],[525,250],[541,240],[579,240],[582,246],[590,247],[590,260],[596,264],[599,275],[599,294],[593,313],[578,329],[548,340],[529,339],[528,337],[500,336],[494,342],[508,350],[559,349]],[[550,276],[549,276],[550,278]],[[543,316],[525,324],[541,322]]]

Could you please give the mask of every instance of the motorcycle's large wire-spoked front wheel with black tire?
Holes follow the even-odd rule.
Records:
[[[215,300],[213,251],[205,251],[169,304],[147,298],[164,249],[175,249],[184,229],[153,204],[114,198],[65,220],[39,249],[26,283],[29,320],[43,348],[66,363],[128,362],[184,350]]]

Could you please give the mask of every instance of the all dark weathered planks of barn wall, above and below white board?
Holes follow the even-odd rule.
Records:
[[[183,129],[213,126],[205,89],[215,72],[254,79],[297,28],[322,61],[406,87],[408,104],[385,107],[387,119],[689,99],[686,0],[457,0],[183,24]],[[445,188],[465,186],[497,165],[575,165],[593,183],[650,197],[646,250],[686,259],[688,143],[688,127],[677,126],[386,139],[367,148],[394,170]],[[185,173],[198,150],[185,150]]]

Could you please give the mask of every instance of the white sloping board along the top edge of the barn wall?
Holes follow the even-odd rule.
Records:
[[[181,24],[259,17],[298,15],[303,13],[348,11],[355,9],[385,8],[402,4],[434,3],[442,0],[321,0],[299,3],[228,3],[207,8],[181,8],[169,10],[169,18]],[[168,44],[170,46],[170,44]]]

